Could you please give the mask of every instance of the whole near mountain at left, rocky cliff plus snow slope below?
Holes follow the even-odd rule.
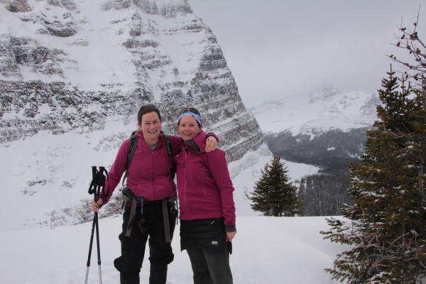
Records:
[[[182,107],[197,107],[238,163],[234,176],[271,155],[186,0],[0,4],[0,230],[42,226],[89,200],[92,165],[109,169],[142,104],[160,107],[168,134]]]

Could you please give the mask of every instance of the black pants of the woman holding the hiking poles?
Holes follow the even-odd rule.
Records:
[[[175,231],[176,215],[170,212],[168,203],[170,235]],[[146,242],[149,245],[150,284],[165,284],[167,267],[173,261],[174,255],[170,243],[165,242],[163,209],[161,203],[150,203],[143,206],[143,217],[146,220],[146,234],[138,227],[141,220],[141,209],[136,209],[135,220],[130,236],[125,236],[129,224],[130,207],[123,214],[123,226],[119,239],[121,241],[121,256],[114,260],[115,268],[120,271],[121,284],[139,284]],[[148,240],[149,236],[149,240]]]

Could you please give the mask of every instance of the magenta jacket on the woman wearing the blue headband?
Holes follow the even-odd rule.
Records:
[[[176,157],[180,219],[194,220],[224,217],[225,225],[235,226],[234,186],[229,177],[225,152],[204,151],[206,133],[195,137],[200,148],[183,143],[186,151]]]

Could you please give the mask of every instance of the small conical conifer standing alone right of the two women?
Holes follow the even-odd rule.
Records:
[[[279,217],[302,214],[302,200],[297,194],[297,187],[290,182],[288,170],[280,162],[280,156],[274,155],[271,165],[265,165],[254,188],[250,197],[254,211]]]

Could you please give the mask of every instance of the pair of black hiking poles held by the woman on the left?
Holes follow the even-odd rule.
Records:
[[[105,187],[105,175],[107,170],[104,167],[99,167],[97,170],[96,166],[92,167],[92,182],[90,182],[89,195],[94,195],[94,202],[99,200],[99,193],[101,189]],[[90,258],[92,256],[92,246],[93,246],[93,237],[96,229],[96,243],[97,243],[97,258],[98,258],[98,270],[99,270],[99,284],[102,284],[102,272],[101,272],[101,251],[99,246],[99,223],[98,223],[98,214],[94,212],[93,222],[92,222],[92,234],[90,235],[90,246],[89,246],[89,256],[87,257],[87,268],[86,268],[86,280],[84,284],[87,284],[87,279],[89,278],[89,268],[90,268]]]

